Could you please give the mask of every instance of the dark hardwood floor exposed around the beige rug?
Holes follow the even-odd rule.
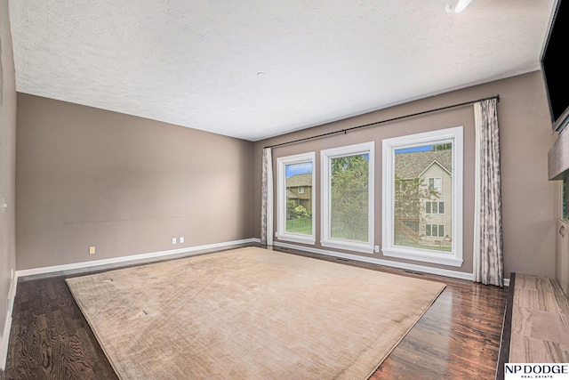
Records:
[[[494,378],[507,288],[275,249],[447,285],[372,379]],[[117,378],[65,283],[68,277],[96,271],[101,269],[19,279],[8,360],[0,379]]]

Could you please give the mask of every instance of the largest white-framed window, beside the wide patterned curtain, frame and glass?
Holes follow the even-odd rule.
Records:
[[[461,266],[462,145],[461,126],[383,141],[383,255]]]

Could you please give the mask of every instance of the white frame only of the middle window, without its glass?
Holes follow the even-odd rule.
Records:
[[[373,163],[374,163],[374,141],[364,142],[355,145],[349,145],[341,148],[333,148],[330,150],[320,151],[320,165],[322,173],[322,198],[321,198],[321,208],[322,208],[322,219],[321,219],[321,240],[320,244],[323,247],[332,247],[338,249],[345,249],[349,251],[362,252],[365,254],[373,254]],[[356,240],[346,240],[346,239],[333,239],[331,237],[331,166],[330,161],[333,158],[342,158],[349,156],[358,155],[369,155],[369,165],[368,165],[368,237],[366,242],[356,241]]]

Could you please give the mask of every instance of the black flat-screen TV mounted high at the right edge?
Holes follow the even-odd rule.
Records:
[[[569,123],[569,0],[557,0],[541,54],[553,130]]]

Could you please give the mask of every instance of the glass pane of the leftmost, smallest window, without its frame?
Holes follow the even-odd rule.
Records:
[[[286,232],[312,234],[312,162],[285,166]]]

